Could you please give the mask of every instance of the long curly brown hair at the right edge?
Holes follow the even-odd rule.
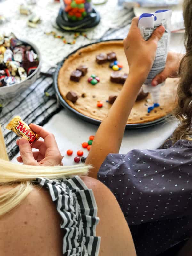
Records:
[[[179,68],[179,85],[177,89],[178,104],[174,111],[179,126],[173,133],[173,140],[192,140],[192,0],[184,0],[183,17],[185,23],[186,54]]]

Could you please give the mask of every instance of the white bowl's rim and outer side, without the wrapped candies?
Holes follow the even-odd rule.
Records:
[[[0,87],[0,99],[2,100],[10,100],[15,98],[16,96],[20,95],[22,92],[24,92],[28,87],[31,86],[36,80],[37,77],[39,76],[41,72],[41,54],[39,49],[36,47],[35,44],[31,43],[28,40],[22,40],[20,39],[24,44],[30,45],[36,52],[39,58],[39,65],[36,68],[36,70],[28,76],[24,81],[18,83],[18,84],[13,84],[11,86],[3,86]]]

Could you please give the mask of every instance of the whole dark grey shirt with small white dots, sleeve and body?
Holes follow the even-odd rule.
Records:
[[[192,142],[109,154],[98,179],[116,196],[137,255],[158,255],[192,236]]]

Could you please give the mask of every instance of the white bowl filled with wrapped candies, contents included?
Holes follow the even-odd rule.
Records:
[[[0,99],[10,100],[33,84],[41,68],[38,48],[13,33],[0,35]]]

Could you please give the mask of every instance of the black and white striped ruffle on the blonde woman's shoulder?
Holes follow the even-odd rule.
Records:
[[[64,231],[64,256],[98,256],[100,237],[96,236],[97,204],[92,189],[75,176],[71,179],[49,180],[37,178],[34,181],[49,190],[56,202]]]

